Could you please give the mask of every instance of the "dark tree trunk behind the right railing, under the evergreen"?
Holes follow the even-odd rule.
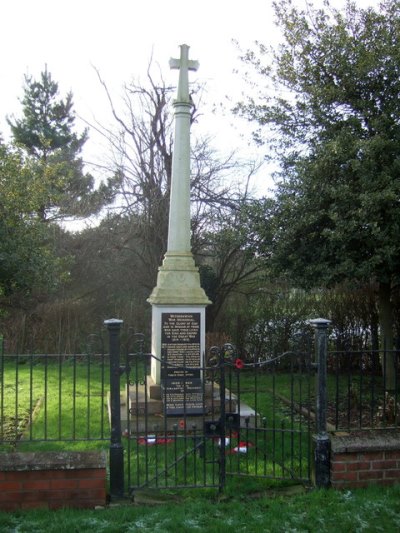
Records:
[[[396,365],[393,352],[393,308],[390,282],[379,283],[379,323],[385,389],[394,391],[396,386]]]

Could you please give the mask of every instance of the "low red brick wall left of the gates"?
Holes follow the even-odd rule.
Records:
[[[17,457],[15,465],[12,465],[10,460],[7,460],[6,465],[2,465],[0,458],[1,510],[14,511],[37,507],[93,508],[105,505],[104,460],[95,463],[91,460],[85,468],[85,458],[82,460],[84,454],[79,454],[79,461],[74,465],[73,454],[68,454],[68,460],[62,463],[61,454],[58,453],[56,461],[52,461],[49,454],[46,464],[39,461],[37,464],[23,465],[24,456],[27,454],[11,455],[22,457]],[[40,455],[43,458],[45,454]]]

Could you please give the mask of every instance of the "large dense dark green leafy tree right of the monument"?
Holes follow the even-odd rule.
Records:
[[[377,282],[390,345],[400,271],[400,3],[303,12],[281,0],[275,9],[282,46],[270,54],[260,44],[245,57],[267,88],[238,106],[281,165],[276,198],[250,213],[256,250],[303,287]]]

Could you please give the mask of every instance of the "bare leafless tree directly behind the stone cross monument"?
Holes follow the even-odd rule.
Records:
[[[137,282],[150,292],[167,248],[175,88],[156,81],[149,66],[146,84],[133,81],[125,85],[122,102],[117,105],[99,73],[98,77],[117,126],[97,125],[111,148],[109,169],[119,186],[115,209],[117,217],[125,220],[115,224],[122,232],[116,236],[115,246],[130,251]],[[193,87],[193,99],[200,100],[201,93],[201,87]],[[192,123],[197,118],[194,106]],[[254,272],[242,241],[232,238],[233,234],[228,238],[225,230],[234,232],[242,206],[251,197],[255,171],[254,164],[238,161],[233,153],[222,158],[207,137],[192,141],[192,250],[203,266],[201,273],[211,269],[218,278],[219,292],[212,295],[211,327],[227,295]]]

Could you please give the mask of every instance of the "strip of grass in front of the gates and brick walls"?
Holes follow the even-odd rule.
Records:
[[[93,511],[0,512],[2,533],[384,532],[400,530],[400,487],[295,493],[294,489],[164,495]],[[143,500],[143,498],[142,498]]]

